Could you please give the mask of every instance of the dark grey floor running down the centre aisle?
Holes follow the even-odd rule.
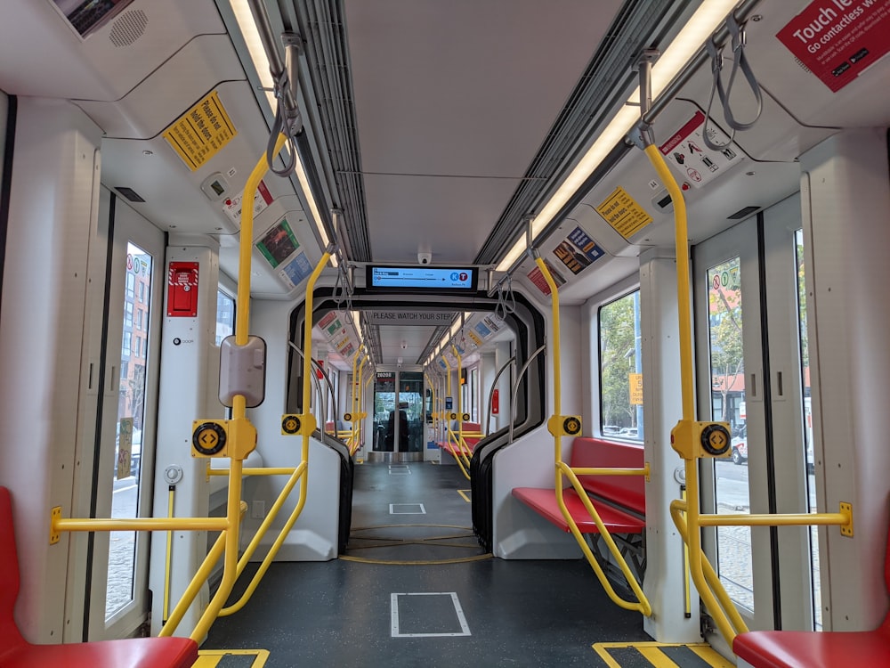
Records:
[[[466,537],[472,531],[408,526],[470,526],[470,504],[457,493],[469,487],[460,472],[403,466],[356,467],[347,555],[385,562],[480,556]],[[407,514],[421,503],[425,515]],[[390,514],[390,504],[401,513]],[[440,539],[414,541],[431,535]],[[642,629],[641,615],[611,603],[585,561],[417,566],[337,559],[273,564],[247,606],[214,623],[204,647],[268,649],[268,668],[603,666],[593,643],[649,639]]]

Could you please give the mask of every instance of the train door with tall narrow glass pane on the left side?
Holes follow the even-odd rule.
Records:
[[[164,235],[121,200],[110,207],[93,507],[97,517],[149,517]],[[149,535],[97,533],[90,541],[89,638],[125,637],[149,607]]]

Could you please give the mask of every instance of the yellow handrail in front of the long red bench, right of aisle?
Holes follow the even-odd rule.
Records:
[[[554,359],[554,416],[562,415],[562,396],[561,396],[561,377],[560,377],[560,314],[559,314],[559,289],[556,287],[556,283],[553,279],[553,276],[550,274],[550,270],[547,268],[546,263],[540,257],[535,258],[535,264],[538,265],[538,269],[540,269],[541,273],[544,275],[544,279],[547,285],[550,287],[550,297],[551,297],[551,308],[552,308],[552,321],[553,321],[553,359]],[[620,471],[620,473],[615,473],[612,475],[646,475],[649,474],[648,465],[645,468],[640,469],[611,469],[611,468],[578,468],[579,471],[602,471],[603,475],[610,475],[611,471]],[[629,471],[634,471],[630,473]],[[565,499],[563,498],[562,493],[562,477],[565,476],[569,479],[571,486],[574,488],[575,492],[578,493],[578,498],[584,504],[585,509],[587,509],[587,513],[590,517],[593,518],[596,528],[599,529],[600,534],[603,536],[603,541],[606,543],[606,547],[609,548],[609,551],[612,555],[612,558],[615,559],[615,563],[618,564],[621,569],[621,573],[624,574],[625,579],[627,579],[627,584],[630,586],[631,590],[634,592],[636,597],[636,602],[627,601],[622,599],[618,593],[612,588],[611,582],[609,582],[609,578],[606,577],[606,574],[603,573],[602,566],[599,565],[599,562],[596,561],[594,557],[594,553],[590,550],[590,546],[587,545],[587,541],[584,540],[583,534],[581,534],[578,529],[578,523],[575,522],[575,519],[571,517],[571,513],[569,509],[566,508]],[[615,541],[612,539],[611,534],[609,533],[609,529],[606,528],[606,525],[603,524],[603,520],[600,518],[599,513],[596,512],[594,504],[590,501],[590,498],[587,496],[587,492],[584,487],[581,486],[578,477],[573,472],[572,468],[564,461],[562,461],[562,431],[560,429],[554,429],[554,487],[556,493],[556,504],[559,506],[560,512],[562,513],[562,517],[565,519],[566,524],[569,525],[569,530],[571,534],[575,537],[575,541],[578,542],[578,547],[581,548],[581,551],[584,552],[585,558],[587,558],[587,563],[594,569],[594,573],[596,574],[596,578],[600,581],[600,584],[603,585],[603,589],[606,591],[606,594],[619,607],[623,607],[627,610],[638,610],[643,613],[647,617],[652,614],[652,607],[649,603],[649,599],[646,598],[646,595],[643,593],[643,589],[640,587],[639,583],[636,582],[636,578],[634,574],[630,570],[630,566],[627,566],[627,561],[624,556],[621,554],[618,546],[615,544]]]

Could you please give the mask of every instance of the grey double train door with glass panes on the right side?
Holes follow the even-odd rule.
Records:
[[[795,196],[693,249],[699,414],[732,430],[732,459],[701,462],[704,512],[815,509],[800,228]],[[819,627],[815,541],[799,527],[703,537],[753,629]]]

